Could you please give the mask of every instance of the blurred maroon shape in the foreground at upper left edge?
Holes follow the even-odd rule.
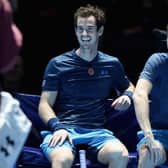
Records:
[[[0,73],[11,70],[22,47],[22,33],[13,23],[8,0],[0,0]]]

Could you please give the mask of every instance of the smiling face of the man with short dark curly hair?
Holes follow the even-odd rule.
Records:
[[[75,32],[80,46],[90,48],[97,45],[100,35],[93,16],[78,17]]]

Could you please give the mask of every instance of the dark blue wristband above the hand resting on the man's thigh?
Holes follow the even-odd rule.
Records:
[[[56,117],[49,119],[47,122],[47,127],[53,132],[59,129],[66,129],[65,126]]]

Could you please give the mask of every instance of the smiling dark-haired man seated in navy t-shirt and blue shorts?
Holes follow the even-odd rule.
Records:
[[[115,90],[119,97],[112,106],[127,110],[134,86],[116,57],[98,51],[104,23],[105,13],[99,7],[77,9],[79,48],[52,58],[46,67],[39,115],[50,129],[43,134],[41,148],[52,168],[70,168],[77,145],[87,146],[109,168],[127,167],[127,148],[104,129],[105,103]]]

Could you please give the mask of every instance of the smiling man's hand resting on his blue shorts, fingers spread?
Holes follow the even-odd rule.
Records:
[[[70,144],[72,144],[72,139],[65,129],[57,130],[53,133],[53,137],[50,140],[49,145],[50,146],[56,146],[57,144],[59,144],[59,146],[61,146],[66,139],[68,139]]]

